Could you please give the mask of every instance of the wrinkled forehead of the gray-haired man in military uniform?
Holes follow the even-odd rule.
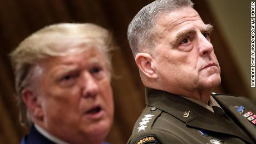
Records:
[[[204,22],[198,12],[192,7],[182,7],[171,12],[160,14],[156,18],[155,28],[159,32],[171,31],[176,27],[186,26],[191,23],[198,23],[204,26]]]

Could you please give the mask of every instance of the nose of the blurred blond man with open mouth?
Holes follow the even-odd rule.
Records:
[[[97,85],[97,80],[93,78],[90,72],[85,72],[82,78],[82,95],[85,98],[96,97],[99,92],[99,86]]]

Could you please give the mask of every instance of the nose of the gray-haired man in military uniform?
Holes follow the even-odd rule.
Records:
[[[199,34],[198,38],[198,44],[199,44],[199,54],[200,56],[204,56],[205,54],[210,54],[211,51],[213,51],[213,44],[204,37],[203,34]]]

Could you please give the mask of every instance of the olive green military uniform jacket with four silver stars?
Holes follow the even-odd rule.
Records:
[[[186,98],[146,88],[147,106],[128,143],[256,143],[256,126],[243,116],[248,111],[256,113],[254,103],[242,97],[213,97],[225,111],[222,114]],[[243,106],[243,112],[239,113],[237,106]]]

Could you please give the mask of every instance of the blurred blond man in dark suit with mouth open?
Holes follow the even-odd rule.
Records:
[[[23,143],[102,143],[112,97],[110,33],[91,23],[47,26],[11,53]]]

